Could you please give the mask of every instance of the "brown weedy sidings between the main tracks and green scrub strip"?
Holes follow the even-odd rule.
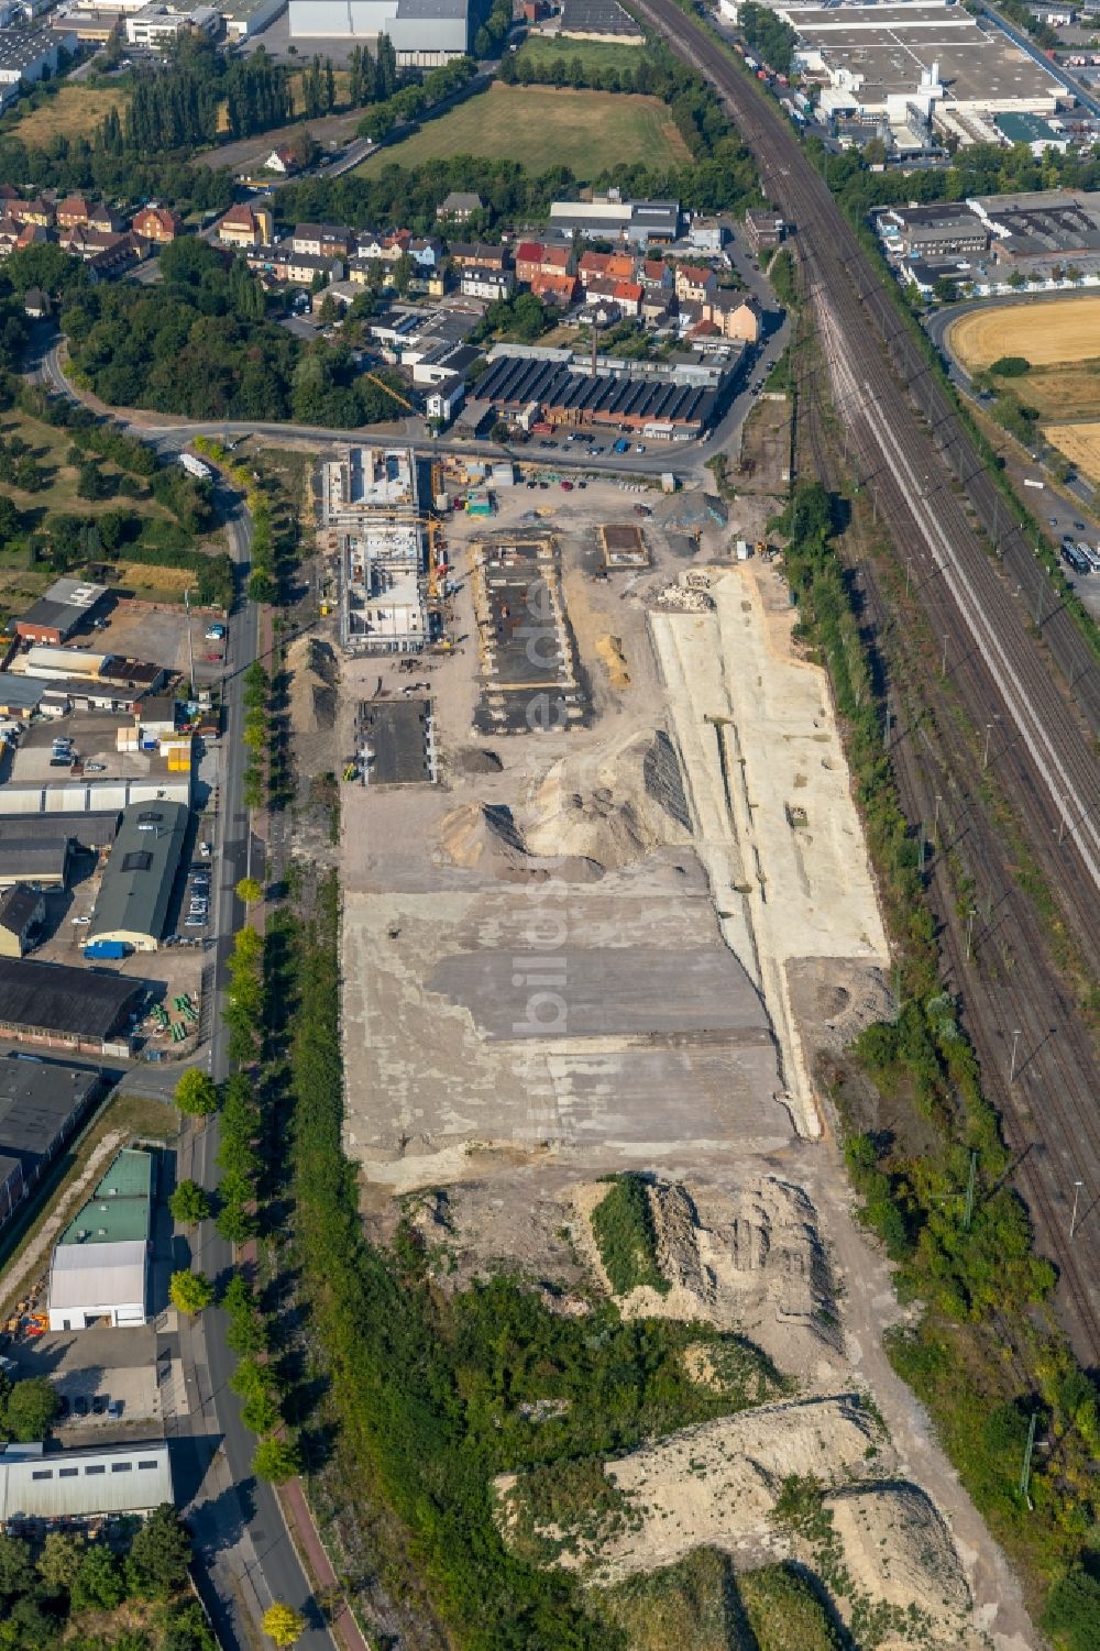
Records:
[[[846,479],[824,433],[819,385],[808,373],[799,378],[799,409],[814,471],[839,490]],[[927,665],[922,669],[918,639],[892,622],[870,561],[859,563],[856,584],[865,608],[864,624],[879,652],[889,654],[898,695],[907,695],[910,685],[917,692],[918,685],[920,703],[935,718],[932,741],[918,717],[898,715],[890,745],[898,794],[912,822],[940,816],[941,840],[933,844],[928,893],[941,923],[945,981],[963,1001],[983,1085],[1004,1119],[1006,1141],[1016,1156],[1014,1179],[1031,1210],[1039,1248],[1059,1268],[1062,1321],[1079,1357],[1092,1364],[1100,1352],[1095,1265],[1100,1247],[1088,1204],[1075,1242],[1069,1238],[1074,1182],[1100,1187],[1092,1040],[1069,996],[1052,989],[1042,967],[1039,923],[1003,867],[996,822],[984,799],[956,778],[973,773],[974,753],[946,693],[928,680]],[[958,910],[948,855],[956,855],[973,878],[973,923]],[[1009,1083],[1016,1032],[1016,1073]]]

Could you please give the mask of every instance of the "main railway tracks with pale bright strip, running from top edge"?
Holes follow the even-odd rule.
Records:
[[[1082,721],[1083,712],[1093,728],[1100,725],[1100,675],[1083,637],[1059,608],[1034,555],[1026,551],[1022,558],[1014,523],[1001,533],[1004,571],[983,548],[953,490],[953,475],[966,489],[978,520],[988,517],[999,532],[1001,525],[1009,528],[1008,510],[783,117],[672,0],[641,0],[641,10],[725,94],[742,137],[760,158],[766,193],[798,226],[818,312],[829,317],[834,330],[832,365],[839,362],[847,370],[847,395],[841,386],[837,398],[841,413],[869,439],[864,479],[879,494],[895,542],[912,548],[925,589],[930,576],[951,586],[951,601],[941,609],[951,660],[979,657],[984,667],[971,713],[986,721],[999,712],[1006,730],[1014,731],[1008,743],[1011,761],[1021,769],[1021,789],[1029,786],[1034,794],[1032,814],[1042,816],[1041,830],[1062,839],[1062,878],[1075,875],[1100,887],[1100,773]],[[908,378],[905,388],[892,360]],[[932,433],[917,411],[932,418]],[[998,512],[1004,512],[1003,522],[994,520]],[[1014,584],[1021,598],[1036,593],[1032,613],[1039,613],[1050,652],[1075,682],[1077,705],[1055,684],[1029,634]],[[1082,933],[1082,941],[1092,949],[1097,936]]]

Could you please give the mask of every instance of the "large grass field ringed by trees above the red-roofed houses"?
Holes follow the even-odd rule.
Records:
[[[656,97],[491,86],[403,144],[378,150],[357,172],[377,177],[383,167],[420,167],[453,155],[519,160],[530,172],[570,167],[585,182],[619,162],[662,167],[689,158],[672,116]]]

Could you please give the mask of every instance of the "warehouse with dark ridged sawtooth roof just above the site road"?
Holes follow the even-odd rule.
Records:
[[[537,404],[547,424],[636,431],[651,441],[690,441],[714,421],[718,396],[697,385],[654,378],[593,376],[558,362],[505,355],[477,381],[471,404],[500,413]]]

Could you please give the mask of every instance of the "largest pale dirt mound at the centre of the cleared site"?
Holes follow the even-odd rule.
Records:
[[[631,738],[595,771],[573,756],[555,763],[522,811],[529,850],[575,855],[614,870],[666,844],[685,844],[687,830],[646,786],[652,740]]]

